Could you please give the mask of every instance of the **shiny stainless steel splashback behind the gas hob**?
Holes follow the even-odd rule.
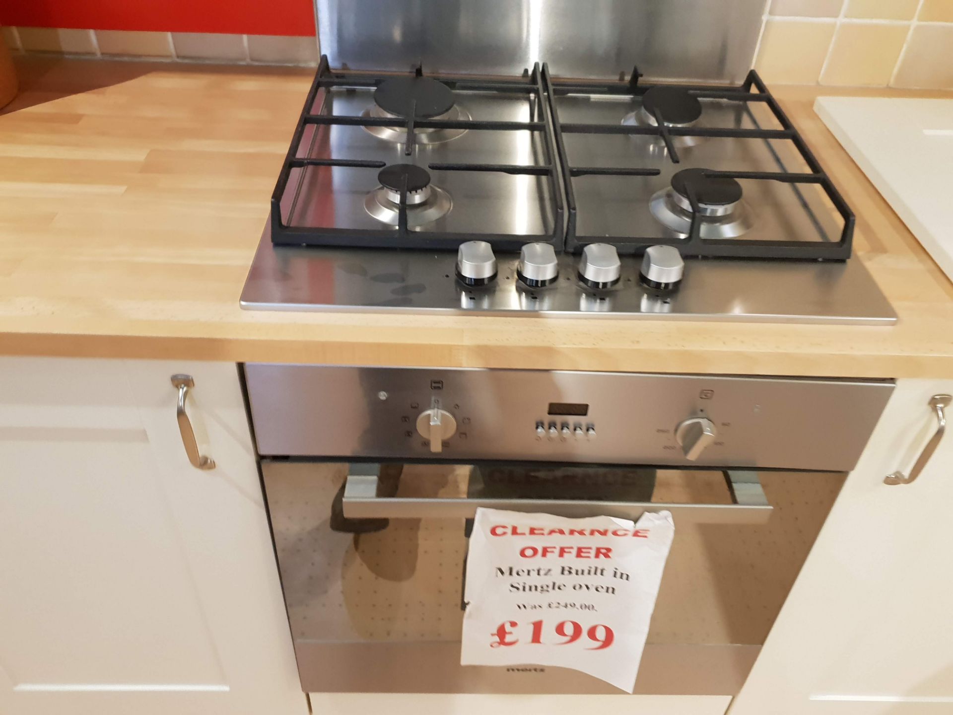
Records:
[[[765,0],[314,0],[334,68],[738,82]]]

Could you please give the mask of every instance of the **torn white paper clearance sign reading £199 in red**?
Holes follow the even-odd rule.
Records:
[[[632,692],[675,524],[478,509],[463,665],[575,668]]]

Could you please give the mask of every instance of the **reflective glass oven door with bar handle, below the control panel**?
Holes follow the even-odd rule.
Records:
[[[618,693],[574,670],[459,664],[478,506],[638,519],[671,511],[637,693],[733,695],[844,475],[263,460],[303,689]]]

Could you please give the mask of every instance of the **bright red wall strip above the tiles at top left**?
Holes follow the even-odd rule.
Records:
[[[0,0],[0,25],[314,35],[313,0]]]

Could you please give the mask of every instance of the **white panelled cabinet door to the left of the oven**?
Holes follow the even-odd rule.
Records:
[[[307,712],[233,364],[0,359],[0,712]]]

